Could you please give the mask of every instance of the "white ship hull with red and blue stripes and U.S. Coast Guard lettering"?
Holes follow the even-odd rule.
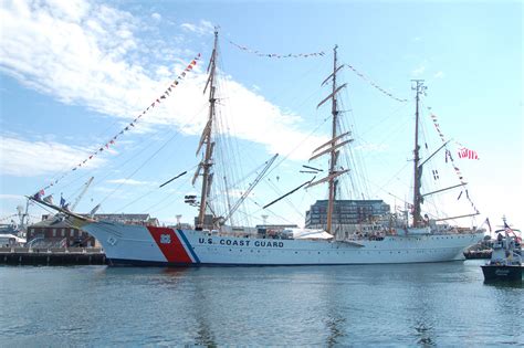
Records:
[[[82,228],[103,245],[112,265],[343,265],[463,260],[482,232],[386,236],[380,241],[277,240],[210,235],[108,222]]]

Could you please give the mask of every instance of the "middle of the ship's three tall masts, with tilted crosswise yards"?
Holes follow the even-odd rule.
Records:
[[[343,84],[340,86],[337,85],[336,81],[336,74],[338,71],[344,67],[344,64],[340,66],[337,66],[337,49],[338,46],[335,45],[333,49],[333,73],[324,80],[322,85],[324,85],[326,82],[332,80],[332,93],[325,97],[321,103],[318,103],[317,108],[323,105],[324,103],[331,101],[332,102],[332,138],[326,144],[317,147],[313,151],[313,156],[310,158],[310,160],[315,159],[317,157],[321,157],[323,155],[329,155],[329,172],[328,176],[324,179],[317,180],[315,182],[310,183],[306,188],[310,188],[312,186],[315,186],[317,183],[322,182],[328,182],[328,200],[327,200],[327,221],[326,221],[326,232],[334,234],[333,232],[333,213],[335,210],[335,199],[336,199],[336,178],[347,171],[346,170],[337,170],[337,159],[338,159],[338,149],[348,144],[349,140],[343,140],[344,137],[349,135],[349,133],[344,133],[338,135],[337,133],[337,125],[338,125],[338,107],[337,107],[337,93],[346,87],[347,84]]]

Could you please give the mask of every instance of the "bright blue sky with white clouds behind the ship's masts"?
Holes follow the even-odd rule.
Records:
[[[423,78],[425,134],[436,136],[431,107],[453,139],[453,154],[455,141],[479,154],[480,160],[454,156],[481,212],[476,224],[486,217],[496,224],[505,214],[522,226],[522,11],[518,1],[3,1],[0,217],[14,213],[23,194],[65,173],[46,191],[55,200],[60,193],[74,200],[95,177],[77,211],[102,202],[102,212],[148,212],[165,222],[182,214],[192,221],[196,210],[184,204],[184,196],[199,193],[190,179],[207,117],[202,88],[212,28],[220,25],[219,110],[233,136],[222,143],[232,155],[218,156],[217,167],[239,182],[231,200],[255,168],[281,154],[239,211],[239,223],[260,223],[268,214],[268,222],[301,224],[308,205],[325,199],[326,188],[318,187],[270,210],[259,207],[311,178],[300,168],[328,134],[323,120],[329,109],[316,104],[328,94],[319,84],[338,44],[339,62],[368,77],[348,68],[340,74],[348,83],[340,107],[355,138],[348,198],[410,201],[410,80]],[[260,57],[230,41],[264,53],[326,54]],[[168,101],[86,168],[71,171],[161,95],[197,53],[202,59]],[[409,102],[390,98],[369,81]],[[443,177],[447,165],[439,158]],[[238,161],[227,167],[222,159]],[[190,173],[158,189],[185,170]],[[454,210],[459,193],[436,203],[438,210]],[[31,207],[33,221],[41,212]],[[453,213],[459,208],[448,212]]]

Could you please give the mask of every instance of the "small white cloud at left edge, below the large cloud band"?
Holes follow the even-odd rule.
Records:
[[[54,141],[25,141],[11,135],[0,139],[0,169],[2,175],[33,177],[71,170],[90,156],[85,148],[71,147]],[[94,157],[86,168],[99,166],[104,160]]]

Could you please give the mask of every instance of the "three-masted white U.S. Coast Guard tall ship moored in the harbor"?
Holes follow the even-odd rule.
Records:
[[[211,209],[209,194],[213,184],[213,129],[216,126],[216,73],[218,32],[210,57],[205,93],[209,95],[209,114],[201,134],[197,154],[202,152],[193,177],[201,179],[198,217],[195,226],[163,228],[97,221],[81,215],[49,201],[33,198],[39,203],[67,215],[71,223],[93,235],[103,245],[109,265],[347,265],[347,264],[395,264],[427,263],[463,260],[463,251],[479,242],[484,230],[478,228],[455,228],[438,223],[422,217],[420,177],[423,162],[419,156],[418,122],[419,95],[423,86],[416,85],[416,136],[415,136],[415,184],[411,204],[411,221],[389,221],[379,229],[368,222],[368,232],[361,229],[340,232],[334,229],[333,215],[336,210],[336,187],[338,180],[349,169],[337,165],[339,150],[352,143],[349,131],[340,131],[338,93],[346,84],[338,85],[337,73],[343,67],[337,62],[337,46],[334,48],[333,72],[323,82],[331,84],[331,93],[317,107],[331,104],[332,131],[329,140],[318,146],[312,159],[328,157],[327,176],[312,179],[300,188],[327,184],[327,223],[318,230],[284,230],[280,233],[253,233],[253,229],[227,225],[228,217],[219,217]],[[291,193],[291,192],[290,192]],[[187,197],[195,200],[195,197]],[[275,200],[277,201],[277,200]],[[269,205],[269,204],[268,204]],[[266,205],[266,207],[268,207]],[[461,217],[459,217],[461,218]],[[391,219],[389,219],[391,220]]]

